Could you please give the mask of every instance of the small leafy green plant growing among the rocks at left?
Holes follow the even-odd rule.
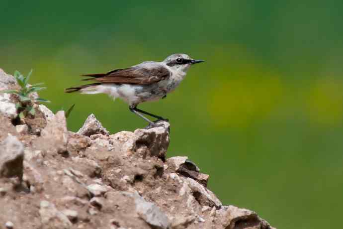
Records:
[[[14,72],[14,78],[16,79],[18,85],[20,86],[19,90],[3,90],[0,91],[2,93],[9,93],[14,94],[18,96],[19,102],[15,104],[15,108],[17,110],[17,113],[19,114],[19,118],[26,117],[27,114],[35,115],[35,110],[33,108],[34,102],[45,102],[50,103],[50,101],[37,98],[37,99],[31,99],[29,95],[33,92],[38,92],[40,90],[46,89],[45,87],[37,87],[39,85],[42,85],[43,83],[34,84],[34,85],[28,85],[27,82],[30,79],[30,76],[32,74],[32,70],[29,72],[29,74],[25,77],[20,72],[15,71]]]

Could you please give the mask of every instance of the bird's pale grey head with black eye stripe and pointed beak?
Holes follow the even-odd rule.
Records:
[[[169,67],[175,71],[186,72],[192,64],[204,62],[203,60],[193,60],[187,54],[172,54],[164,61]]]

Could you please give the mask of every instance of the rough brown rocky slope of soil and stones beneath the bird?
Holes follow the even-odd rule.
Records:
[[[169,123],[110,135],[95,119],[74,133],[64,112],[37,107],[40,135],[0,110],[0,228],[272,229],[223,206],[187,157],[167,159]]]

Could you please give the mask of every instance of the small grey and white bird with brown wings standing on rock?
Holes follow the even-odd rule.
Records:
[[[116,69],[107,73],[85,74],[96,83],[80,87],[67,88],[66,93],[81,92],[82,94],[108,94],[113,99],[121,98],[129,105],[129,109],[147,122],[148,127],[155,127],[159,120],[168,121],[156,114],[140,110],[137,106],[148,101],[166,98],[174,91],[186,76],[188,68],[203,60],[194,60],[186,54],[172,54],[162,62],[145,61],[130,68]],[[143,114],[157,118],[151,121]]]

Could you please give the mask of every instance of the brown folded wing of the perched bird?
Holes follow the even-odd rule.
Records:
[[[85,80],[95,80],[101,83],[115,84],[141,84],[148,85],[167,79],[170,71],[158,64],[136,65],[126,69],[116,69],[104,74],[89,74],[93,78]]]

